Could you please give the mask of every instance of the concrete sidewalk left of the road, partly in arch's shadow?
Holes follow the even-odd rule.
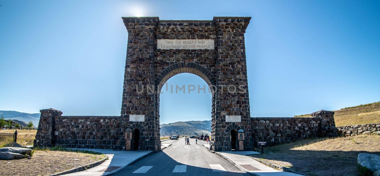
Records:
[[[100,165],[90,168],[86,171],[80,171],[70,174],[65,174],[65,176],[103,176],[127,167],[136,160],[141,159],[153,151],[123,151],[123,150],[112,150],[112,149],[79,149],[70,148],[78,150],[88,150],[94,152],[100,152],[108,156],[108,160],[101,163]]]

